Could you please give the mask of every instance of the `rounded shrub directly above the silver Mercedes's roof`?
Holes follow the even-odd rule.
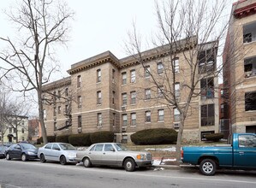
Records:
[[[94,143],[108,143],[113,142],[114,132],[102,131],[102,132],[92,132],[90,134],[90,139],[92,144]]]

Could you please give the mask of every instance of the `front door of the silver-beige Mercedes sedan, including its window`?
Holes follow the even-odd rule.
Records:
[[[116,150],[112,144],[104,144],[101,161],[105,165],[116,166]]]

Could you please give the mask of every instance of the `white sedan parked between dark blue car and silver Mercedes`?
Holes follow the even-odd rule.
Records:
[[[73,145],[67,143],[48,143],[39,148],[38,156],[40,162],[54,161],[66,164],[76,163],[75,156],[77,150]]]

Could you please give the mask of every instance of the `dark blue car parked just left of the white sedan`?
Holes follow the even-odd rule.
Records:
[[[23,162],[38,158],[38,149],[33,144],[12,144],[5,150],[7,160],[21,159]]]

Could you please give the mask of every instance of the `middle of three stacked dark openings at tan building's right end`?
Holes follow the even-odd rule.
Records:
[[[208,99],[214,97],[214,80],[213,78],[201,79],[201,99]]]

